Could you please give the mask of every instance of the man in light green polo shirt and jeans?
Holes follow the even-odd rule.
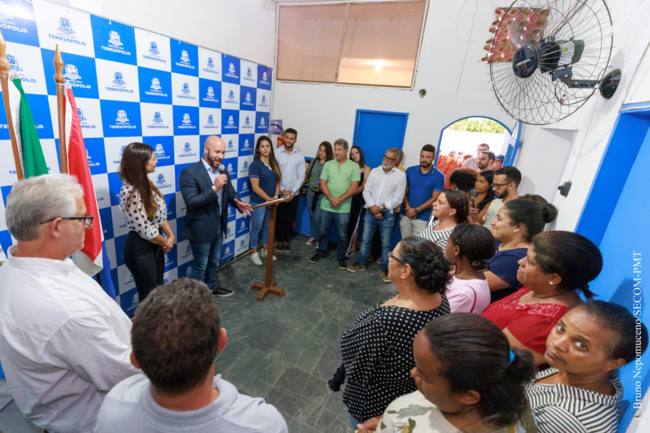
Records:
[[[350,203],[352,194],[359,186],[361,171],[359,164],[348,159],[348,142],[339,138],[334,142],[336,159],[328,161],[320,174],[320,190],[323,193],[320,202],[320,234],[318,248],[309,263],[316,263],[325,257],[328,237],[332,222],[338,236],[336,259],[339,268],[346,270],[345,252],[348,248],[348,222],[350,221]]]

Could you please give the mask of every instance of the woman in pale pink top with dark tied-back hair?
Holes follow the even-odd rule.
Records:
[[[489,306],[489,286],[485,276],[487,259],[494,256],[492,234],[483,226],[460,224],[447,242],[447,259],[454,276],[447,286],[452,313],[480,314]]]

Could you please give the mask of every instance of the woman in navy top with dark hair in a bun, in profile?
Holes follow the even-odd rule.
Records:
[[[487,284],[496,302],[521,287],[517,280],[518,262],[526,257],[532,238],[555,219],[557,209],[549,203],[543,205],[518,198],[502,205],[497,217],[491,221],[492,235],[497,240],[496,254],[487,261]]]

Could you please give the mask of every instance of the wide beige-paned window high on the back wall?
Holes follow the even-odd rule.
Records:
[[[277,79],[410,88],[426,5],[279,4]]]

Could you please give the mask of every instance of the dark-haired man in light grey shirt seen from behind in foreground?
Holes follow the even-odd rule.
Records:
[[[144,374],[110,390],[96,433],[287,433],[274,406],[214,376],[226,330],[205,283],[183,278],[154,289],[138,306],[131,341],[131,362]]]

